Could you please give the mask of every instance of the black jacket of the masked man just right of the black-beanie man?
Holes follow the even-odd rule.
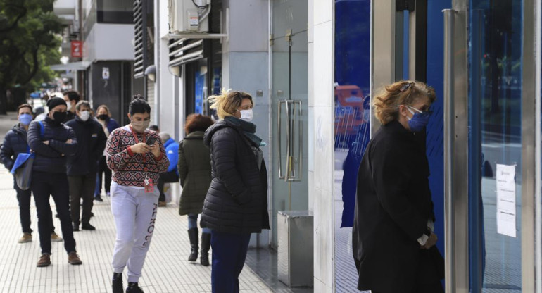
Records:
[[[77,137],[77,151],[68,156],[68,175],[86,175],[96,173],[96,162],[106,148],[106,133],[100,123],[94,119],[87,121],[75,116],[66,123],[72,127]]]

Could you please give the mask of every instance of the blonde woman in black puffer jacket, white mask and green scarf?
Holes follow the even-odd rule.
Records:
[[[210,96],[209,101],[222,120],[209,127],[204,137],[213,181],[203,204],[201,227],[212,230],[213,292],[239,292],[251,233],[270,229],[267,170],[260,150],[262,139],[250,122],[252,97],[229,91]]]

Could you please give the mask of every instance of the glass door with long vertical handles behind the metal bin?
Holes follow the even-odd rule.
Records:
[[[277,212],[308,210],[308,3],[272,1],[272,247]]]

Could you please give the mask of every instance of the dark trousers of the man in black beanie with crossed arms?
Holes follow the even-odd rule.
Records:
[[[56,213],[58,213],[58,218],[61,220],[64,248],[68,254],[75,251],[72,217],[70,216],[68,177],[62,173],[32,171],[32,191],[34,192],[34,201],[37,208],[37,227],[42,254],[51,254],[51,225],[53,224],[53,218],[49,196],[53,197],[56,204]]]

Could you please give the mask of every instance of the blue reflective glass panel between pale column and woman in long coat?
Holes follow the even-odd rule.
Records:
[[[336,292],[359,292],[351,227],[358,168],[370,138],[370,5],[370,0],[335,1]]]

